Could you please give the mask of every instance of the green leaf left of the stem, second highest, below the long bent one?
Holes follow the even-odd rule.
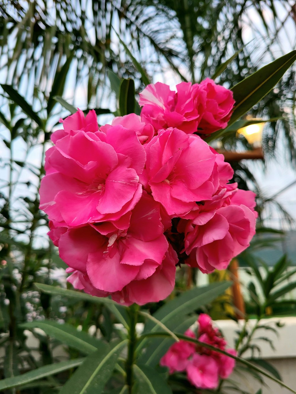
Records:
[[[75,327],[67,323],[59,324],[50,320],[43,320],[41,322],[24,323],[20,327],[29,330],[36,327],[41,328],[47,335],[58,339],[63,344],[66,344],[70,348],[75,348],[84,354],[93,353],[102,343],[84,331],[77,331]]]

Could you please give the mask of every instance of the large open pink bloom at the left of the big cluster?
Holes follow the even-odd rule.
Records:
[[[118,221],[141,197],[145,158],[135,132],[123,126],[70,132],[47,156],[40,208],[56,226]]]

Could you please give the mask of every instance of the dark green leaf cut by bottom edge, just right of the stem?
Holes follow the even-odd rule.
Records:
[[[134,365],[133,370],[137,378],[133,394],[172,394],[172,389],[155,369],[139,364]]]

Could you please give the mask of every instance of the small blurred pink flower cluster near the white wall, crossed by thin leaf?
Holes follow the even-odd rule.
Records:
[[[231,355],[234,349],[226,349],[226,341],[207,314],[200,314],[197,335],[190,329],[185,332],[189,338],[215,346]],[[189,382],[197,388],[217,388],[219,378],[226,379],[232,373],[235,360],[227,355],[209,350],[193,342],[180,340],[174,343],[160,360],[161,366],[169,367],[169,373],[186,372]]]

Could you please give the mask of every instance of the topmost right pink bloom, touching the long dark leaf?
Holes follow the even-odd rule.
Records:
[[[226,128],[235,103],[232,91],[216,85],[210,78],[200,82],[199,89],[203,92],[204,110],[198,132],[210,134]]]

